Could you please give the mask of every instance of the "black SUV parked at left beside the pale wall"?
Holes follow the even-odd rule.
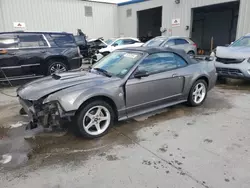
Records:
[[[0,81],[38,78],[81,64],[80,50],[70,33],[0,33]]]

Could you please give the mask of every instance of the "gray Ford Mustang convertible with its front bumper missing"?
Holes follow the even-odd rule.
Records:
[[[201,105],[217,79],[214,63],[171,48],[117,50],[88,71],[58,73],[30,82],[17,94],[32,124],[71,121],[76,133],[96,138],[116,120],[175,104]]]

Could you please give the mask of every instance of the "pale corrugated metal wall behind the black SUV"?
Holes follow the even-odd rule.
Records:
[[[13,22],[17,21],[25,22],[26,30],[32,31],[75,33],[80,28],[89,37],[118,35],[115,4],[81,0],[0,0],[0,3],[0,31],[13,31]],[[85,16],[85,6],[92,7],[92,17]]]

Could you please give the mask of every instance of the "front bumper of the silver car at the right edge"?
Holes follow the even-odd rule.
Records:
[[[215,61],[218,76],[228,78],[250,79],[250,63],[247,60],[242,63],[224,64]]]

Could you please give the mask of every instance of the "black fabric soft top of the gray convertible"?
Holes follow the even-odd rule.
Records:
[[[184,50],[173,49],[169,47],[133,47],[133,48],[122,48],[119,51],[134,51],[134,52],[143,52],[147,54],[154,54],[154,53],[160,53],[160,52],[172,52],[181,56],[183,59],[186,60],[188,64],[198,63],[196,60],[191,59]]]

